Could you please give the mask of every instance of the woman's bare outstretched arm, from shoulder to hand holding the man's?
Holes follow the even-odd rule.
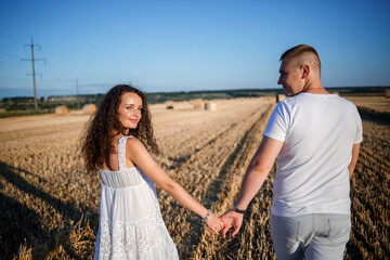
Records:
[[[200,218],[205,218],[207,209],[200,205],[195,198],[193,198],[179,183],[173,181],[152,158],[145,146],[134,138],[127,140],[126,144],[127,158],[134,165],[141,168],[141,170],[152,179],[162,190],[168,192],[182,206],[192,210]],[[218,231],[222,227],[222,222],[213,213],[210,213],[207,224],[216,233],[216,226]],[[217,232],[218,233],[218,232]]]

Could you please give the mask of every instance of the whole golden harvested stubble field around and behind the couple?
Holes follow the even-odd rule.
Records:
[[[156,160],[217,213],[236,198],[261,141],[274,99],[216,101],[218,109],[153,105]],[[91,259],[99,221],[100,180],[86,178],[78,139],[89,116],[0,119],[0,259]],[[351,185],[351,239],[346,259],[389,255],[390,123],[363,117],[364,142]],[[240,232],[223,239],[157,188],[181,259],[273,259],[269,227],[274,168],[251,203]]]

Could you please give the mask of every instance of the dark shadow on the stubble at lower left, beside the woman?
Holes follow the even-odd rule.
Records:
[[[0,259],[12,259],[17,256],[21,246],[32,248],[32,256],[39,259],[47,259],[48,253],[60,245],[64,247],[66,255],[73,256],[69,234],[74,224],[83,222],[84,225],[86,212],[92,220],[99,218],[98,213],[83,205],[76,208],[69,203],[53,197],[29,183],[21,173],[32,176],[39,182],[46,182],[29,171],[0,161],[0,248],[2,248]],[[31,200],[32,197],[36,199]],[[50,205],[62,219],[65,219],[63,222],[65,225],[57,227],[55,223],[46,222],[48,220],[44,219],[43,213],[50,212],[47,211],[44,204]],[[38,211],[35,211],[35,208]]]

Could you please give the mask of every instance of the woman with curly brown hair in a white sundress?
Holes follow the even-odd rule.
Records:
[[[94,259],[179,259],[161,218],[154,183],[198,214],[217,234],[222,222],[152,158],[159,153],[145,95],[119,84],[104,96],[81,147],[89,172],[102,179]]]

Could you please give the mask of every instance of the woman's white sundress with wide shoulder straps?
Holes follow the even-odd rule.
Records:
[[[99,169],[102,194],[93,259],[179,259],[153,181],[139,167],[126,167],[128,138],[119,139],[119,170]]]

